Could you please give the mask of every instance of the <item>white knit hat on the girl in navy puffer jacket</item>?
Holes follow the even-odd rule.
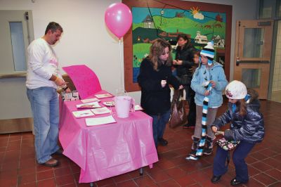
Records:
[[[247,96],[247,87],[240,81],[234,80],[226,86],[226,96],[230,99],[242,99]]]

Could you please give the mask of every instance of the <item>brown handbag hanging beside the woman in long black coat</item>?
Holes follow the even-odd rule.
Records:
[[[183,89],[175,90],[173,100],[171,101],[171,116],[169,119],[169,127],[175,128],[181,124],[185,124],[188,117],[185,112],[185,102],[183,101]]]

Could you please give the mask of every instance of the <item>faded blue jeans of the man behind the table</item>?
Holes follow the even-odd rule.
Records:
[[[58,147],[58,93],[51,87],[27,89],[34,119],[37,162],[45,163]]]

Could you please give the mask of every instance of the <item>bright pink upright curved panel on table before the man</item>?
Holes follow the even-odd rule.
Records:
[[[63,70],[72,79],[81,99],[93,96],[94,93],[101,90],[96,73],[86,65],[70,65],[63,67]]]

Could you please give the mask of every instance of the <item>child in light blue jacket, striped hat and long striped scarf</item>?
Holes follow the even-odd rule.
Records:
[[[192,136],[192,148],[189,153],[187,160],[197,160],[197,148],[200,146],[200,139],[203,137],[202,135],[202,120],[206,120],[204,127],[207,126],[207,136],[205,134],[204,138],[204,150],[200,153],[200,155],[211,155],[213,152],[213,141],[214,141],[214,133],[211,131],[211,126],[216,118],[216,112],[218,107],[223,103],[222,91],[226,88],[228,81],[226,80],[226,75],[223,70],[223,66],[220,63],[217,63],[214,60],[214,42],[209,41],[207,46],[204,46],[201,55],[201,63],[199,67],[195,70],[195,73],[192,77],[191,88],[195,91],[195,103],[196,103],[196,125],[194,135]],[[203,84],[209,82],[211,84],[211,91],[207,90]],[[208,106],[207,106],[207,117],[204,114],[203,116],[203,105],[204,98],[209,98]],[[205,129],[204,129],[205,130]],[[200,149],[202,149],[200,147]]]

